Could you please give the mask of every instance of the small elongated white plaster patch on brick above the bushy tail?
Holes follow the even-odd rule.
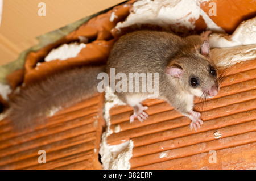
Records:
[[[76,57],[80,52],[81,49],[85,48],[85,43],[70,43],[70,44],[63,44],[56,49],[52,49],[51,52],[44,58],[44,61],[49,62],[52,60],[66,60],[68,58]]]

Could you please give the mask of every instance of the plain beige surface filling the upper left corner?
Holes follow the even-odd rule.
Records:
[[[107,9],[124,0],[3,0],[0,27],[0,66],[38,44],[35,37]],[[38,4],[46,3],[46,16]]]

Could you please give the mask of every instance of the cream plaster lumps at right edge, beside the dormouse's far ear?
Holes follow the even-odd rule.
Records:
[[[232,35],[212,34],[209,41],[218,67],[256,59],[256,17],[242,22]]]

